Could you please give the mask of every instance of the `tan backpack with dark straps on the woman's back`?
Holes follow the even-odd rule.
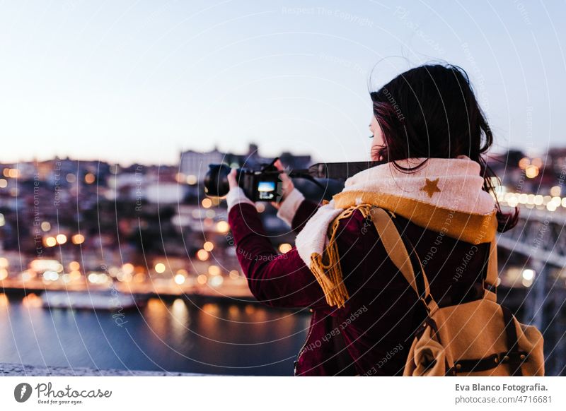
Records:
[[[497,249],[490,244],[483,297],[456,305],[434,301],[414,247],[408,254],[393,222],[395,215],[382,208],[371,209],[381,242],[389,258],[427,309],[427,318],[415,333],[404,376],[543,376],[543,335],[536,327],[519,323],[497,304]],[[392,219],[393,218],[393,219]],[[413,266],[420,273],[415,276]]]

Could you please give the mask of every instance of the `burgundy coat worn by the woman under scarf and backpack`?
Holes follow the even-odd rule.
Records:
[[[316,203],[303,201],[292,230],[298,233],[317,208]],[[470,290],[481,281],[487,244],[474,246],[397,219],[422,260],[432,296],[447,302],[473,298]],[[389,260],[371,220],[355,211],[340,221],[337,246],[350,294],[342,309],[326,304],[320,285],[295,248],[277,254],[253,205],[234,205],[229,224],[253,295],[268,306],[312,311],[295,375],[403,374],[412,334],[424,319],[424,310]]]

